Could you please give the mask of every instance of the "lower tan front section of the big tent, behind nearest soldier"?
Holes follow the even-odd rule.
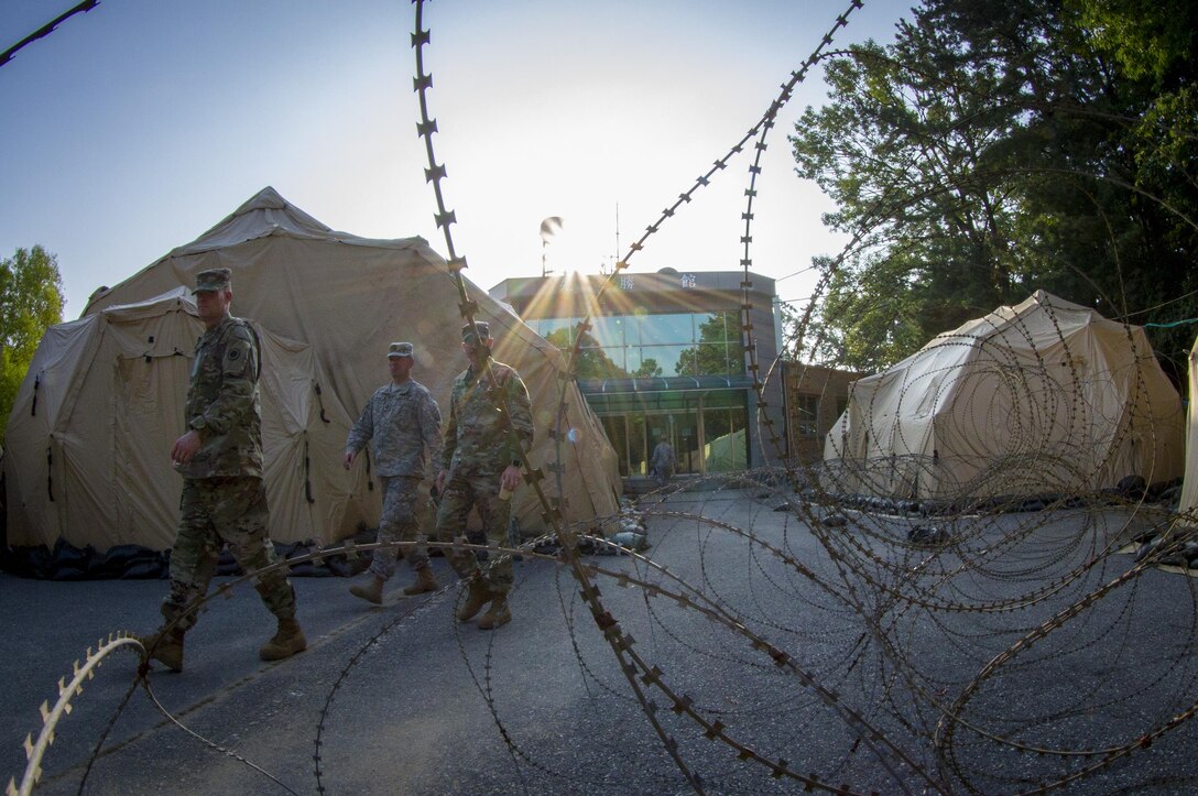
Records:
[[[167,451],[202,330],[190,293],[175,287],[47,332],[8,424],[12,543],[170,547],[181,481]],[[322,406],[327,379],[311,346],[258,332],[272,530],[319,539],[347,512],[353,479],[313,462],[339,455],[350,418]]]

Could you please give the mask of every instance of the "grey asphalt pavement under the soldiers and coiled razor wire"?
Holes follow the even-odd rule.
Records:
[[[141,681],[117,643],[35,792],[1014,794],[1091,766],[1066,790],[1198,788],[1194,579],[1126,577],[1132,557],[1103,552],[1139,518],[964,517],[943,521],[961,541],[931,551],[895,543],[913,521],[846,512],[821,539],[825,510],[779,503],[678,493],[645,506],[645,554],[665,570],[583,557],[643,661],[635,686],[553,560],[516,564],[514,619],[494,632],[453,620],[443,559],[442,591],[400,596],[401,565],[379,608],[346,579],[295,578],[309,649],[277,663],[256,654],[272,618],[234,588],[180,674]],[[165,588],[0,575],[5,780],[60,677],[110,634],[156,627]]]

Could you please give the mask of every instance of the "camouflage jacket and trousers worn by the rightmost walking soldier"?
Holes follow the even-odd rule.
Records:
[[[496,388],[507,399],[510,425],[527,445],[533,437],[528,389],[510,365],[492,359],[490,367]],[[478,509],[484,533],[492,540],[507,540],[512,502],[498,498],[500,475],[508,464],[520,464],[520,451],[512,448],[508,419],[494,394],[496,388],[491,387],[485,371],[476,372],[473,366],[454,381],[441,449],[441,468],[448,472],[437,509],[436,536],[441,541],[450,541],[465,531],[471,508]],[[466,578],[478,571],[473,551],[455,553],[447,548],[446,558],[459,577]],[[501,557],[482,578],[489,591],[506,595],[512,588],[512,559]]]

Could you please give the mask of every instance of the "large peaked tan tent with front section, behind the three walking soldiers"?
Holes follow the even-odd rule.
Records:
[[[201,330],[186,288],[217,267],[232,271],[234,314],[262,338],[272,537],[332,543],[377,521],[369,457],[350,473],[341,468],[345,435],[388,378],[394,340],[416,345],[413,377],[447,411],[466,365],[454,281],[420,238],[335,232],[266,188],[196,241],[97,292],[80,320],[47,333],[6,432],[11,545],[62,537],[98,549],[170,546],[182,481],[168,451],[183,430]],[[545,491],[571,522],[615,514],[615,452],[576,385],[561,378],[559,352],[485,291],[468,291],[476,317],[491,324],[496,358],[528,385],[531,460],[555,468],[545,472]],[[527,487],[515,509],[526,530],[544,527]]]

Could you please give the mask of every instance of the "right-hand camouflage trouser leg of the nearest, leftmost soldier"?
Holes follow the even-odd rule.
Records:
[[[223,499],[212,515],[217,533],[229,542],[229,551],[247,573],[274,564],[274,545],[267,535],[270,512],[266,487],[260,478],[230,478]],[[284,570],[262,572],[254,578],[262,602],[279,620],[295,619],[296,594]]]

